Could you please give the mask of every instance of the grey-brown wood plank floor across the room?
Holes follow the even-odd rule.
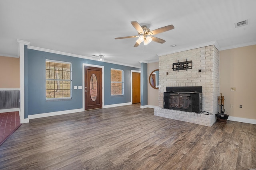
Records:
[[[32,119],[0,146],[0,169],[8,170],[249,168],[256,168],[256,125],[206,127],[139,104]]]

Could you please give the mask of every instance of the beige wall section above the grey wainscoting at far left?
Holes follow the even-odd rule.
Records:
[[[0,88],[20,88],[20,59],[0,56]]]

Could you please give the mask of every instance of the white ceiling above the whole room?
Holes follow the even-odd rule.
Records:
[[[33,47],[140,67],[158,55],[216,42],[219,50],[256,44],[256,0],[0,0],[0,55],[18,57],[17,39]],[[248,20],[248,25],[235,24]],[[133,47],[130,21],[150,30],[174,29],[155,37],[164,44]],[[176,44],[176,47],[170,47]],[[96,59],[96,57],[92,57]]]

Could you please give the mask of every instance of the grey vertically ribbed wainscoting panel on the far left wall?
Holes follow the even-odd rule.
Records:
[[[0,109],[20,108],[20,90],[0,91]]]

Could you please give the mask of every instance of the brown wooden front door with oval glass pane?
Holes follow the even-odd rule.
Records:
[[[84,66],[85,110],[102,108],[102,68]]]

